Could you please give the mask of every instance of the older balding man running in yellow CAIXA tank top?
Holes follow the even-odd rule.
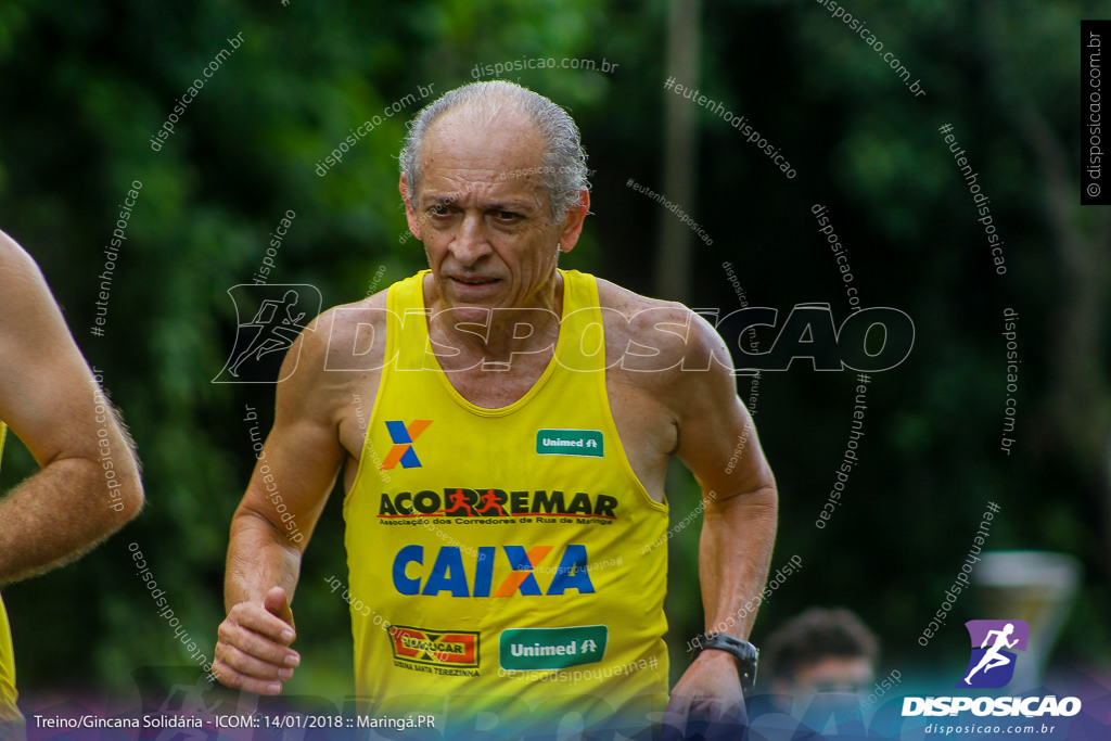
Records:
[[[558,268],[590,194],[578,128],[547,98],[452,90],[417,117],[401,170],[429,269],[323,313],[290,352],[232,520],[219,679],[274,694],[292,677],[308,540],[287,522],[311,532],[342,469],[370,710],[438,729],[490,713],[494,735],[659,720],[667,548],[651,545],[678,455],[703,490],[707,625],[735,635],[705,640],[670,717],[742,719],[742,605],[767,579],[777,493],[724,343],[685,307]]]

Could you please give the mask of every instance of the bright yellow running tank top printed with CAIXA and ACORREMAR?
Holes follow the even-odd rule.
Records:
[[[343,505],[356,685],[374,712],[497,735],[643,724],[667,703],[667,548],[644,547],[668,508],[618,438],[597,283],[560,272],[556,354],[501,409],[426,353],[429,271],[390,288],[392,361]]]

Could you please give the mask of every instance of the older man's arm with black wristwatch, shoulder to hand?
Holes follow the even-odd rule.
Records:
[[[705,354],[729,358],[724,343],[701,319],[690,334],[689,367],[705,368]],[[699,578],[707,631],[747,639],[753,602],[764,588],[775,540],[778,494],[755,428],[737,398],[731,370],[683,371],[679,381],[678,454],[702,488],[704,507]],[[732,655],[705,651],[675,685],[672,709],[715,715],[740,712]]]

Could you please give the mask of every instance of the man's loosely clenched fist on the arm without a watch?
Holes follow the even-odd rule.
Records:
[[[286,590],[274,587],[262,602],[240,602],[220,623],[212,673],[222,684],[258,694],[279,694],[301,654]]]

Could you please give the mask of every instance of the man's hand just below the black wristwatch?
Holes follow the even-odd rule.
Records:
[[[720,729],[728,738],[748,722],[737,661],[725,651],[700,653],[679,678],[663,713],[663,738],[685,738],[694,730],[690,719],[703,719],[699,729],[711,738]]]

